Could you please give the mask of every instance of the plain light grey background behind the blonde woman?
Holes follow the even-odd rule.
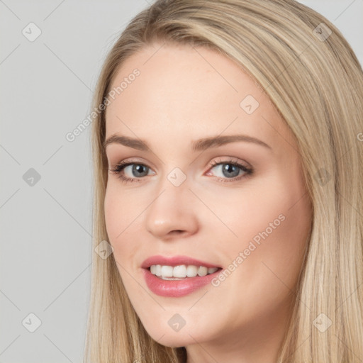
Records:
[[[332,21],[363,62],[363,0],[301,2]],[[82,362],[92,253],[90,128],[73,142],[65,135],[89,115],[106,52],[147,6],[0,0],[0,363]],[[30,22],[41,30],[33,41]]]

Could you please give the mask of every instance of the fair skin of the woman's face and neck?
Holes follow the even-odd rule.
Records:
[[[106,111],[106,138],[126,135],[150,144],[149,151],[113,143],[111,169],[132,166],[123,183],[109,172],[105,198],[108,238],[133,308],[147,333],[169,347],[186,347],[187,362],[276,362],[294,302],[308,232],[311,202],[306,193],[296,139],[269,98],[232,60],[206,48],[148,45],[123,63],[118,86],[133,69],[134,82]],[[259,103],[247,114],[240,102]],[[245,134],[271,148],[235,142],[193,152],[190,143],[214,135]],[[254,169],[223,174],[233,161]],[[175,167],[186,179],[174,186]],[[238,170],[240,170],[238,174]],[[238,179],[236,177],[235,179]],[[227,182],[223,182],[226,180]],[[157,296],[140,267],[152,255],[186,255],[228,269],[258,233],[283,215],[284,221],[219,286],[208,284],[180,297]],[[168,320],[186,321],[174,331]]]

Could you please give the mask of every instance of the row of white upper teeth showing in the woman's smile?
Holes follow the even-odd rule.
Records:
[[[150,272],[157,277],[164,280],[178,280],[185,279],[186,277],[206,276],[207,274],[213,274],[218,270],[218,267],[204,267],[195,266],[190,264],[180,264],[179,266],[164,266],[160,264],[153,264],[150,266]]]

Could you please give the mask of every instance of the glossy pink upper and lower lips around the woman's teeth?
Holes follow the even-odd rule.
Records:
[[[174,257],[163,257],[163,256],[152,256],[143,262],[141,267],[143,267],[143,274],[147,284],[147,287],[159,296],[169,296],[169,297],[181,297],[191,294],[192,292],[206,286],[211,282],[211,280],[219,274],[220,268],[213,274],[208,274],[206,276],[196,276],[187,277],[182,280],[163,280],[156,277],[148,269],[152,264],[162,264],[167,266],[178,266],[179,264],[194,264],[196,266],[204,267],[218,267],[214,264],[209,264],[208,262],[203,262],[198,259],[193,259],[186,256],[174,256]]]

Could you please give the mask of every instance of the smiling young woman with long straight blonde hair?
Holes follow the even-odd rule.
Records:
[[[138,14],[94,98],[84,362],[362,362],[362,105],[296,1]]]

